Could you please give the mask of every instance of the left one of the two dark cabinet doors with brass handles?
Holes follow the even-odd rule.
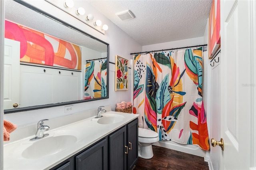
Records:
[[[126,144],[126,126],[109,135],[110,170],[126,170],[128,146]]]

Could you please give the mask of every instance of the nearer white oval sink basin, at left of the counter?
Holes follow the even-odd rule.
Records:
[[[47,136],[36,140],[22,152],[22,156],[28,159],[42,158],[65,150],[76,141],[77,138],[73,135]]]

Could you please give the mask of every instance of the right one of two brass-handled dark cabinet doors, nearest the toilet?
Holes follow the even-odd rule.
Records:
[[[127,142],[127,167],[131,170],[138,160],[138,119],[127,125]]]

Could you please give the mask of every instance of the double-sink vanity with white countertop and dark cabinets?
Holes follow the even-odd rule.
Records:
[[[16,129],[11,133],[14,140],[4,143],[4,169],[132,169],[138,160],[138,115],[107,111],[103,117],[84,119],[85,115],[44,121],[49,135],[33,141],[36,125]]]

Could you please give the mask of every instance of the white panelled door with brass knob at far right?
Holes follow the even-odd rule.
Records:
[[[255,8],[252,3],[221,0],[220,4],[220,131],[224,139],[220,168],[223,170],[248,170],[253,165],[252,92],[255,84],[252,76],[255,73],[251,43],[255,30],[252,30],[251,17]]]

